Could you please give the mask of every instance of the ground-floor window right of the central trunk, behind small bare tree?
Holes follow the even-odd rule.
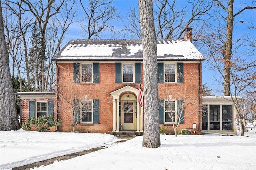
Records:
[[[164,111],[164,122],[172,123],[172,119],[174,123],[176,122],[176,111],[175,111],[175,101],[165,101],[165,111]],[[172,117],[172,118],[171,118]]]

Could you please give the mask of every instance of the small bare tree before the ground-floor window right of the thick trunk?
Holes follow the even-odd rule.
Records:
[[[189,119],[192,115],[198,114],[198,111],[193,111],[194,109],[190,109],[189,112],[186,112],[198,101],[198,94],[195,94],[194,91],[199,87],[191,83],[195,78],[193,75],[196,74],[197,73],[192,70],[182,75],[177,74],[178,79],[183,79],[184,83],[178,84],[172,89],[168,89],[168,87],[163,87],[162,89],[164,93],[161,98],[165,99],[165,101],[164,103],[160,103],[160,107],[162,107],[165,114],[168,115],[166,119],[173,127],[175,136],[177,136],[178,127],[185,119]],[[175,109],[175,102],[177,102],[177,109]]]

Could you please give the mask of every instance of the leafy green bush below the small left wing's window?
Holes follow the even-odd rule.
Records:
[[[26,123],[22,124],[22,128],[24,130],[31,130],[32,128],[35,128],[38,132],[46,132],[47,130],[50,130],[51,127],[60,126],[60,121],[60,119],[53,120],[51,115],[40,116],[37,119],[32,117],[28,119]]]

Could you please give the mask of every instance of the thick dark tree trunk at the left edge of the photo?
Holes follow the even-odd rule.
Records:
[[[9,57],[4,38],[4,23],[0,0],[0,130],[18,130],[14,91],[9,68]]]

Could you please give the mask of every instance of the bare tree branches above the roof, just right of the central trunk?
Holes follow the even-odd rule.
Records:
[[[188,28],[196,30],[197,25],[204,23],[206,15],[213,6],[212,1],[188,0],[178,5],[176,0],[156,0],[155,18],[158,22],[156,36],[161,39],[181,39]]]

